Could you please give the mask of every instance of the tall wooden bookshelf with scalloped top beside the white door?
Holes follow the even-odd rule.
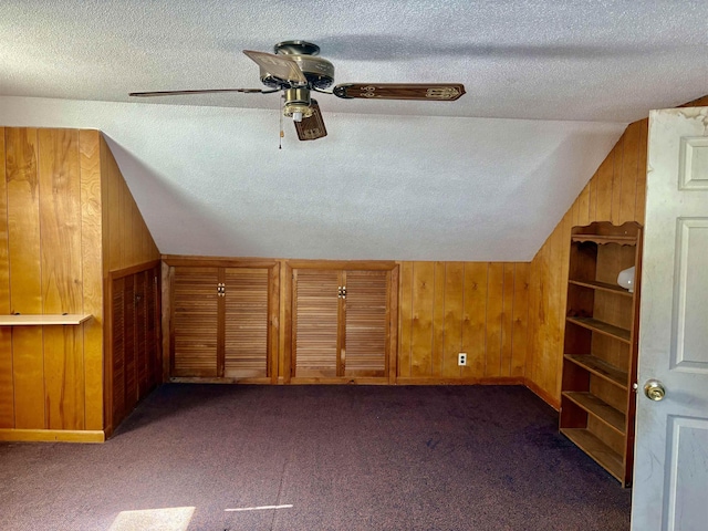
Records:
[[[642,228],[595,222],[571,233],[560,430],[632,485]],[[634,292],[616,284],[635,267]]]

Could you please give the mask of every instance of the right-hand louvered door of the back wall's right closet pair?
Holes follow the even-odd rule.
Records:
[[[385,376],[388,271],[345,271],[344,376]]]

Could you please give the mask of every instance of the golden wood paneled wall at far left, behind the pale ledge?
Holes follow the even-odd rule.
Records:
[[[97,131],[0,127],[0,313],[93,315],[0,326],[0,438],[102,440],[104,241],[133,237],[105,239],[103,206],[122,177]]]

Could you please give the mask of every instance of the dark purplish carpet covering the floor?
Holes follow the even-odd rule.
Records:
[[[629,507],[514,386],[166,384],[103,445],[0,444],[2,530],[608,531]],[[188,528],[118,525],[168,508]]]

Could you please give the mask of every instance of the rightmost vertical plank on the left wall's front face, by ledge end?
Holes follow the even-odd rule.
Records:
[[[101,143],[97,131],[79,132],[81,174],[81,267],[83,313],[93,319],[83,324],[85,429],[103,428],[103,235]]]

